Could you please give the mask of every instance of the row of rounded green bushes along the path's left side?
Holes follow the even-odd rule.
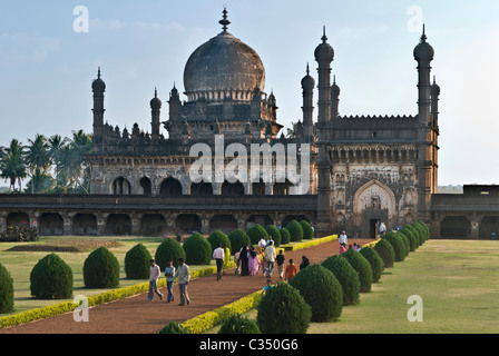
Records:
[[[310,227],[310,229],[309,229]],[[307,231],[304,234],[304,231]],[[312,231],[312,236],[310,235]],[[156,249],[155,260],[164,269],[168,259],[178,267],[178,258],[184,258],[188,265],[209,265],[213,250],[218,244],[227,245],[232,254],[243,245],[254,245],[261,238],[272,236],[276,245],[282,241],[301,240],[313,237],[313,229],[306,221],[291,221],[286,228],[277,229],[268,225],[263,228],[255,225],[246,233],[235,230],[226,236],[216,230],[206,239],[200,234],[194,234],[182,245],[175,239],[164,240]],[[148,249],[138,244],[125,256],[125,273],[127,279],[149,278],[151,255]],[[116,288],[119,285],[119,263],[106,247],[94,250],[84,263],[84,283],[87,288]],[[9,271],[0,264],[0,314],[13,310],[13,280]],[[38,299],[66,299],[72,297],[72,270],[58,255],[50,254],[40,259],[30,274],[31,295]]]

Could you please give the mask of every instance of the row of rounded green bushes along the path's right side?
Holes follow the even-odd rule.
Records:
[[[360,301],[360,294],[371,291],[384,268],[402,261],[429,238],[425,224],[418,221],[399,231],[390,231],[373,247],[349,249],[322,264],[300,270],[288,283],[277,283],[257,305],[256,322],[232,315],[219,334],[304,334],[311,322],[336,320],[344,306]],[[177,323],[162,333],[189,333]]]

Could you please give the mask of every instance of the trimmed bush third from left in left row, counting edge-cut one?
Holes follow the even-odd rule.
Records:
[[[115,288],[119,285],[119,263],[106,247],[101,246],[88,255],[84,263],[84,281],[87,288]]]

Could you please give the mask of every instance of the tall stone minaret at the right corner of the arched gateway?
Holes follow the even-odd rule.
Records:
[[[427,36],[421,36],[420,43],[414,48],[414,59],[418,61],[418,128],[417,128],[417,168],[418,168],[418,219],[429,222],[431,218],[431,194],[434,191],[434,130],[431,122],[431,61],[434,50],[427,42]]]

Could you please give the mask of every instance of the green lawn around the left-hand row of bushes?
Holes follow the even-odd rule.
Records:
[[[57,245],[60,241],[68,239],[79,243],[91,243],[95,240],[101,241],[118,241],[121,246],[109,247],[109,250],[115,254],[119,261],[120,267],[120,281],[119,287],[126,287],[146,280],[126,279],[125,274],[125,255],[135,245],[141,243],[149,250],[150,255],[155,256],[156,248],[163,241],[163,237],[78,237],[78,236],[63,236],[63,237],[41,237],[38,241],[33,243],[0,243],[0,264],[2,264],[12,276],[14,281],[14,313],[23,312],[31,308],[42,307],[49,304],[56,304],[65,300],[40,300],[31,297],[29,276],[33,266],[45,256],[50,253],[47,251],[8,251],[13,246],[27,246],[31,245]],[[90,245],[91,246],[91,245]],[[95,295],[104,293],[109,289],[87,289],[84,286],[84,263],[90,250],[81,253],[56,253],[59,255],[72,269],[74,273],[74,295]],[[192,266],[193,270],[197,268],[204,268],[206,266]],[[67,299],[72,300],[72,299]],[[7,314],[4,314],[7,315]],[[2,315],[2,316],[4,316]]]

